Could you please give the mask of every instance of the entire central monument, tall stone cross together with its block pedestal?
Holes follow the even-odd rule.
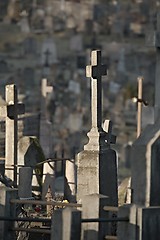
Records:
[[[86,75],[91,78],[92,126],[87,134],[88,144],[77,155],[77,200],[81,201],[88,194],[98,194],[107,196],[106,205],[117,206],[116,153],[110,148],[111,133],[107,134],[102,128],[101,77],[106,72],[106,66],[101,64],[101,51],[92,51],[91,66],[86,68]],[[95,211],[98,211],[97,217],[101,218],[102,212]],[[101,238],[97,235],[95,239]]]

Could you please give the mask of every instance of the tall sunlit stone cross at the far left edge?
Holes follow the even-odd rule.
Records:
[[[17,99],[17,88],[14,84],[6,85],[6,106],[0,107],[0,117],[5,117],[5,174],[17,185],[17,141],[18,141],[18,115],[23,114],[24,104]]]

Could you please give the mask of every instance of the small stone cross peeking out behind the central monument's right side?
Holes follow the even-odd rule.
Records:
[[[103,124],[103,129],[107,133],[106,141],[108,144],[116,143],[116,136],[112,135],[112,122],[110,120],[105,120]]]

